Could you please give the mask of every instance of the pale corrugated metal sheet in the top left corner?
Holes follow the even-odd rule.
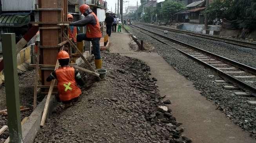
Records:
[[[2,11],[33,11],[36,0],[2,0]]]

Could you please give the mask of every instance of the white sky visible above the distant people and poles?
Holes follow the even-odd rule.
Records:
[[[105,0],[107,2],[107,8],[108,11],[111,11],[112,7],[112,12],[115,12],[115,4],[117,3],[117,0]],[[164,0],[157,0],[157,2],[163,2]],[[125,12],[125,7],[127,6],[136,6],[137,5],[137,0],[123,0],[123,11]],[[140,0],[138,0],[138,5],[140,5]],[[117,9],[117,4],[116,4],[116,9]]]

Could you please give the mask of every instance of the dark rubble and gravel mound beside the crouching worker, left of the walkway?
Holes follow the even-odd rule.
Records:
[[[59,105],[36,134],[35,143],[191,142],[163,103],[157,79],[149,77],[149,66],[108,52],[102,53],[102,59],[108,70],[105,80],[82,89],[73,106]]]

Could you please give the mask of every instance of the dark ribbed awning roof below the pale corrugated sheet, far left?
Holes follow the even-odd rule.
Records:
[[[0,15],[0,27],[22,27],[30,22],[30,15],[13,14],[13,15]]]

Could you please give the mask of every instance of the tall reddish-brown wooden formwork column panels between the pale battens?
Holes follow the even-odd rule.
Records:
[[[67,21],[67,0],[38,0],[39,8],[62,8],[62,10],[47,10],[40,11],[40,22],[61,22]],[[57,27],[56,24],[42,24],[40,27]],[[62,37],[61,29],[40,29],[40,45],[41,46],[56,46],[65,39]],[[59,48],[41,48],[40,49],[40,64],[56,64],[56,56],[59,52]],[[53,70],[42,70],[42,85],[49,85],[50,82],[46,82],[47,77]]]

